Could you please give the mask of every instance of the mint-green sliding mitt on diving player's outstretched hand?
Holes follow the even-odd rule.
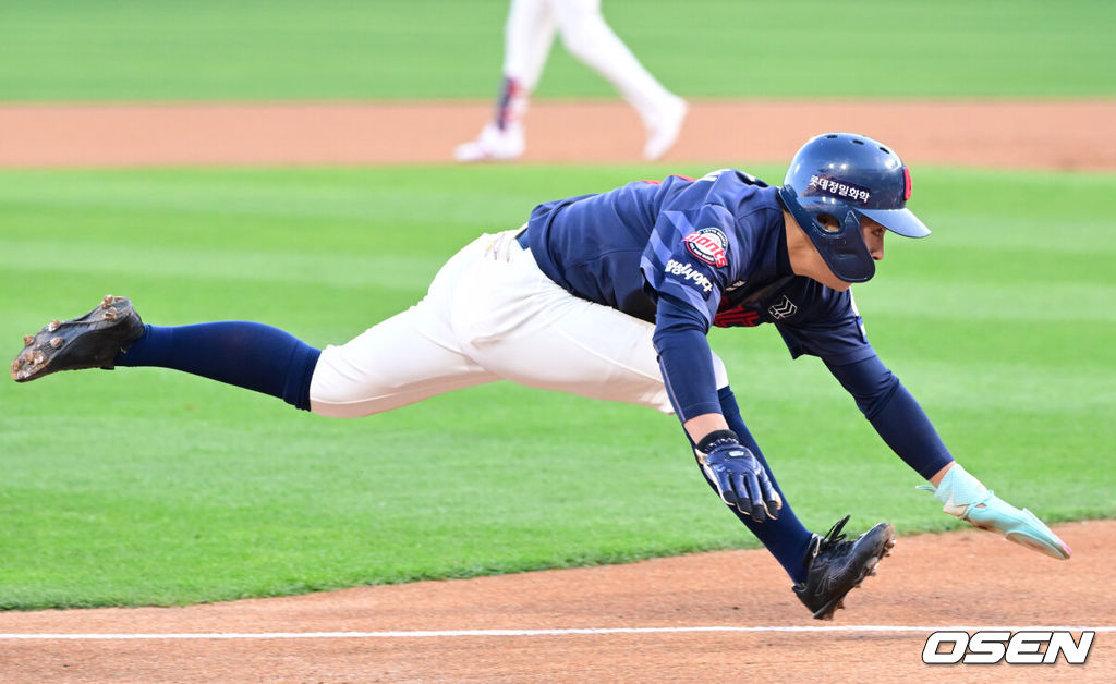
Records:
[[[982,530],[1003,534],[1008,541],[1058,560],[1069,560],[1074,553],[1035,513],[1000,499],[959,463],[945,471],[936,489],[929,484],[917,489],[933,492],[946,513]]]

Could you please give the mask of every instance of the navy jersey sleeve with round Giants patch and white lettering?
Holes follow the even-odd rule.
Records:
[[[657,298],[667,295],[700,311],[712,325],[721,292],[750,258],[750,245],[735,230],[732,213],[706,204],[664,211],[651,235],[639,269]]]

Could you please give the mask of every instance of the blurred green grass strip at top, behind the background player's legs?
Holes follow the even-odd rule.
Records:
[[[691,97],[1116,95],[1109,0],[605,0]],[[0,10],[0,102],[487,98],[508,0],[37,0]],[[615,97],[556,42],[541,97]]]

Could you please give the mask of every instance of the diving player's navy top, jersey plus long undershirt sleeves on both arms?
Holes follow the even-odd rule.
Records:
[[[849,291],[796,276],[777,189],[721,170],[540,204],[521,243],[575,296],[655,324],[683,422],[721,412],[711,326],[776,326],[792,356],[820,357],[884,441],[923,476],[951,459],[865,337]]]

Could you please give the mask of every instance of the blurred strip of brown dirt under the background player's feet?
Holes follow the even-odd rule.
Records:
[[[0,106],[0,167],[440,163],[490,114],[477,104]],[[811,135],[856,131],[912,164],[1116,168],[1116,100],[696,102],[666,161],[786,163]],[[526,162],[639,162],[615,102],[538,103]]]

